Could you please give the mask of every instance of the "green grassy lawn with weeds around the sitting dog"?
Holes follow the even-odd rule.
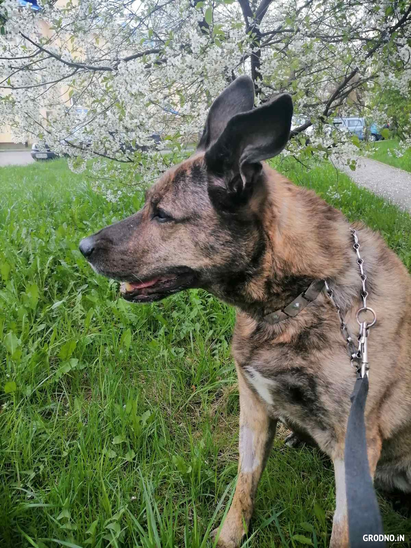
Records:
[[[406,213],[330,165],[276,165],[411,269]],[[64,160],[0,168],[0,189],[0,545],[211,545],[237,470],[234,311],[202,290],[128,304],[86,264],[79,240],[140,193],[109,203]],[[328,458],[278,437],[244,546],[328,546],[334,497]],[[411,535],[379,500],[386,533]]]

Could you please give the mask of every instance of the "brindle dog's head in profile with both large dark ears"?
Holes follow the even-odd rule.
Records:
[[[286,94],[253,105],[252,81],[237,78],[210,108],[196,153],[147,191],[138,213],[81,241],[97,272],[124,282],[125,299],[149,302],[203,287],[232,301],[230,288],[258,269],[261,161],[286,145],[293,106]]]

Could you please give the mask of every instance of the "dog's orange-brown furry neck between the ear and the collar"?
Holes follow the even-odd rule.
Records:
[[[344,216],[267,166],[264,176],[265,196],[255,208],[261,231],[254,244],[264,252],[249,281],[226,299],[255,319],[287,306],[312,281],[344,283],[347,269],[355,269]]]

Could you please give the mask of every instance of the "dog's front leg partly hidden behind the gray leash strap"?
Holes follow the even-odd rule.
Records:
[[[376,465],[381,453],[381,437],[377,432],[367,436],[367,456],[371,477],[374,477]],[[347,495],[345,490],[345,463],[344,445],[340,444],[339,450],[333,458],[335,475],[336,506],[333,519],[330,548],[349,548]],[[359,539],[360,541],[361,539]]]

